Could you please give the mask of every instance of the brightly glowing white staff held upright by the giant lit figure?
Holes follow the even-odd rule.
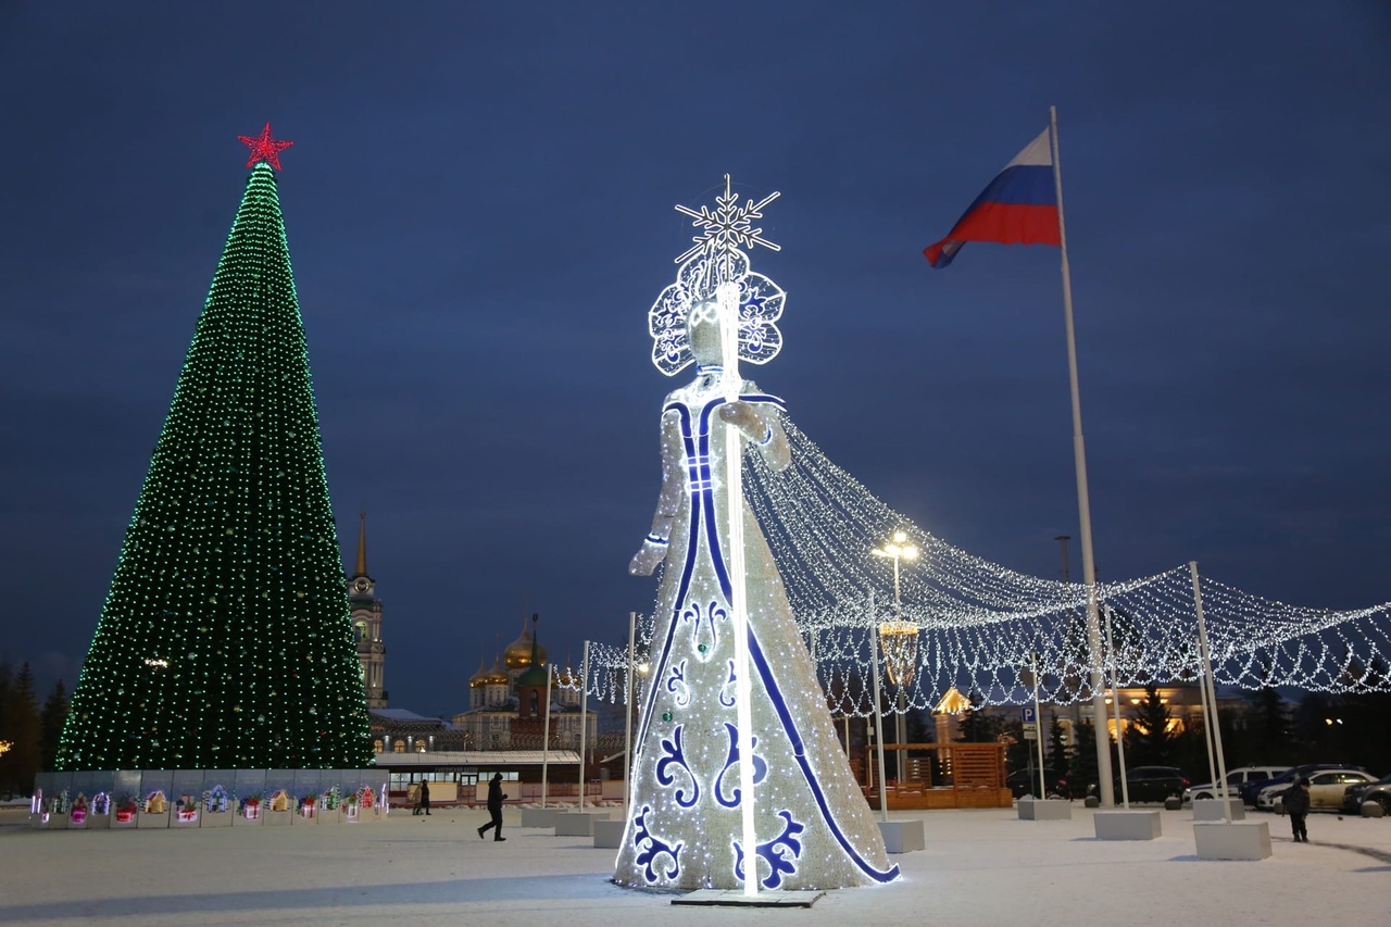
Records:
[[[739,284],[722,280],[719,302],[721,348],[725,362],[725,399],[739,401]],[[725,425],[725,487],[729,514],[729,611],[734,629],[734,721],[739,725],[739,807],[743,813],[744,895],[758,894],[758,846],[754,818],[754,714],[748,678],[748,604],[744,589],[744,441],[737,425]]]

